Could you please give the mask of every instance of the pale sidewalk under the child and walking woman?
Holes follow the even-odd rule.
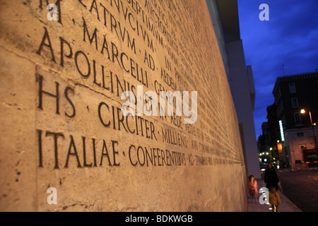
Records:
[[[264,182],[259,182],[259,189],[265,186]],[[279,196],[281,196],[281,205],[278,206],[278,212],[302,212],[300,208],[298,208],[292,201],[290,201],[286,196],[284,196],[281,191],[278,191]],[[257,203],[251,203],[252,197],[249,196],[247,201],[247,211],[248,212],[271,212],[271,205],[261,205],[259,203],[259,196],[261,194],[257,194]]]

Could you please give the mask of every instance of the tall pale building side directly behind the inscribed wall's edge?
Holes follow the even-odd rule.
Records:
[[[237,0],[206,0],[220,54],[230,84],[240,126],[247,174],[260,178],[257,138],[254,126],[255,88],[252,66],[247,66],[237,11]],[[218,10],[216,10],[218,9]]]

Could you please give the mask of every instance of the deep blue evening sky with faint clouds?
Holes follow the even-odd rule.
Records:
[[[261,4],[269,5],[269,20],[259,20]],[[318,69],[318,1],[237,0],[237,5],[245,61],[254,75],[258,138],[266,107],[274,102],[276,78]]]

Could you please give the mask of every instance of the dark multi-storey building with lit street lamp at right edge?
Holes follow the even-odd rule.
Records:
[[[292,169],[317,164],[318,73],[278,77],[273,95],[283,160]]]

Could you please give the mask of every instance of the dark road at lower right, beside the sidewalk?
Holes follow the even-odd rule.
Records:
[[[278,169],[283,194],[304,212],[318,212],[318,170]]]

